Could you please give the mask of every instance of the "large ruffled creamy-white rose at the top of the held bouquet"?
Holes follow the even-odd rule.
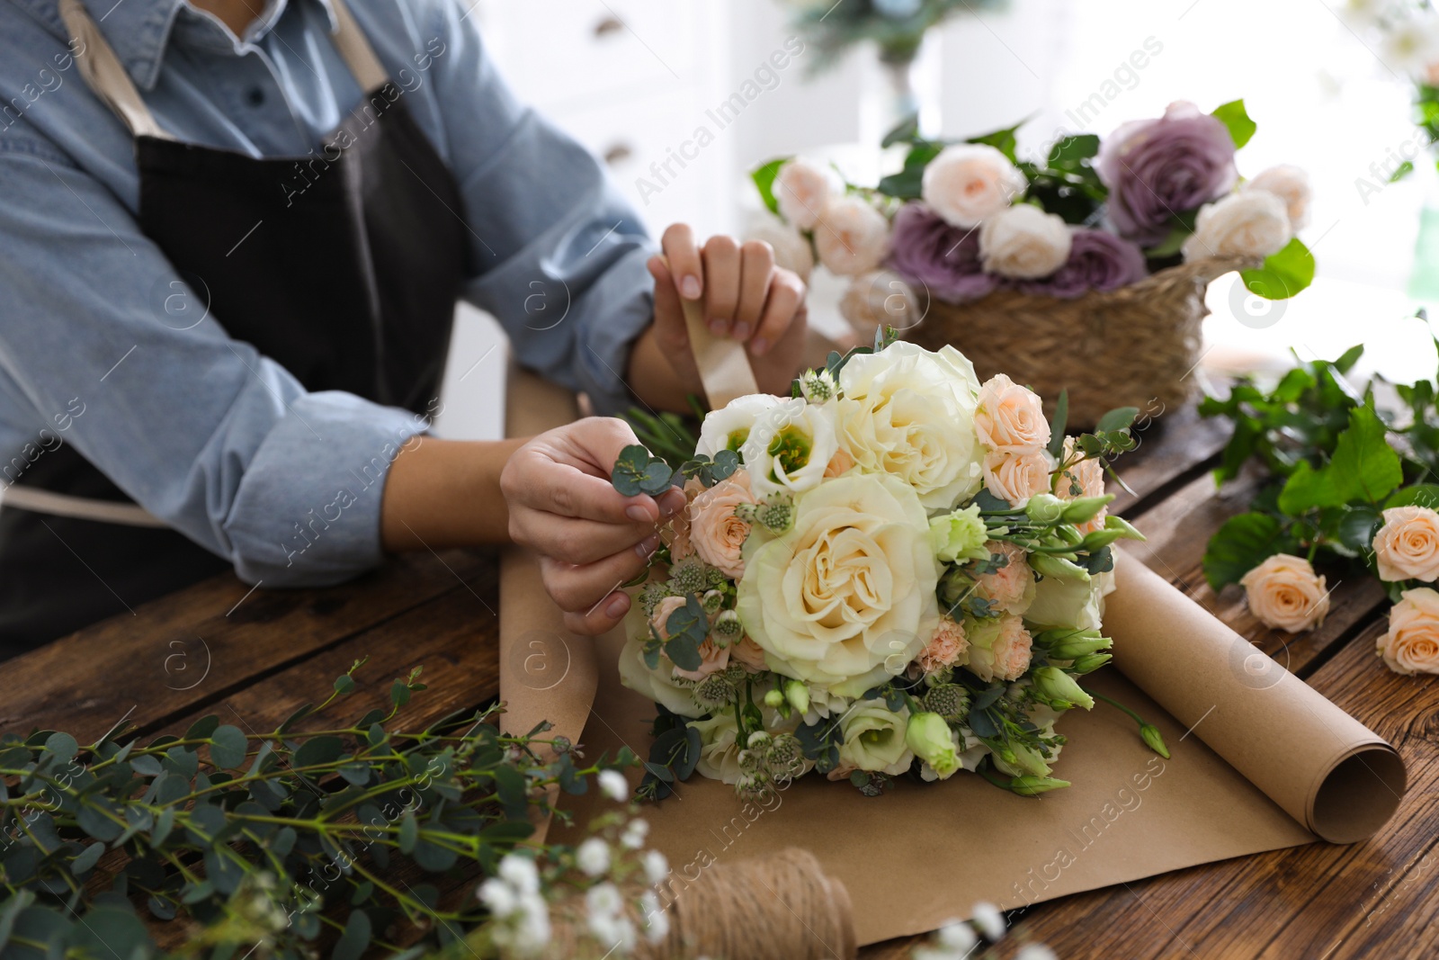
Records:
[[[979,491],[979,379],[964,354],[901,340],[852,357],[839,386],[839,443],[861,469],[898,476],[927,510],[950,510]]]

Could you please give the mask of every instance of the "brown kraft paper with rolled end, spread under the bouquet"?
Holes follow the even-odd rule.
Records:
[[[541,409],[535,381],[512,386],[511,409]],[[1140,741],[1128,717],[1097,704],[1059,723],[1069,743],[1055,776],[1073,786],[1039,799],[966,774],[902,780],[865,797],[810,774],[760,805],[696,774],[645,810],[673,894],[709,864],[800,846],[845,884],[868,944],[967,917],[977,901],[1009,910],[1318,838],[1354,842],[1393,815],[1404,769],[1389,744],[1137,558],[1118,558],[1117,584],[1105,612],[1114,662],[1086,684],[1154,723],[1170,760]],[[589,639],[558,625],[534,564],[507,556],[501,697],[509,728],[550,718],[587,756],[613,756],[622,744],[648,756],[655,708],[620,687],[622,630]],[[527,659],[525,649],[544,656]],[[558,681],[534,669],[561,659]],[[560,803],[583,830],[603,802],[591,790]],[[577,842],[577,830],[555,826],[553,839]]]

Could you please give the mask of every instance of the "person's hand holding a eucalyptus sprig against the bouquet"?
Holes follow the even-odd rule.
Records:
[[[623,497],[610,484],[620,450],[636,443],[623,420],[589,417],[541,433],[499,476],[509,535],[540,554],[545,590],[574,633],[604,633],[629,610],[619,586],[655,548],[659,524],[685,505],[682,491]]]

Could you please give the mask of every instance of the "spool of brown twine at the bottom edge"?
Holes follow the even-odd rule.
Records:
[[[626,900],[636,900],[642,889],[625,891]],[[637,960],[853,960],[858,950],[849,891],[799,848],[711,864],[694,882],[673,874],[656,894],[669,917],[669,936],[650,944],[645,917],[629,908],[642,931],[630,954]],[[600,957],[613,946],[589,936],[583,898],[558,904],[551,924],[545,957]]]

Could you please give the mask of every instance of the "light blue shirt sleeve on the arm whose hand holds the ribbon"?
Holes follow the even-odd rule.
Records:
[[[514,98],[473,17],[453,0],[436,13],[435,105],[476,259],[465,298],[499,320],[521,364],[623,410],[630,345],[655,314],[655,245],[594,155]]]

